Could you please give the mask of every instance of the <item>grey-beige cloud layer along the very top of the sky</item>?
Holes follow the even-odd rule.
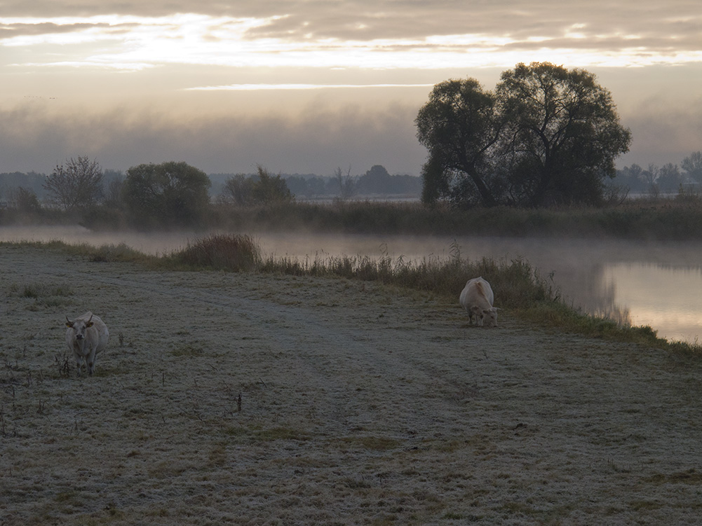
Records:
[[[555,36],[579,32],[596,34],[699,35],[698,4],[689,0],[607,0],[456,2],[435,0],[161,0],[5,1],[6,17],[135,15],[164,17],[199,13],[214,18],[275,19],[252,34],[269,38],[371,40],[421,39],[428,35],[505,34]],[[671,29],[675,29],[672,32]]]

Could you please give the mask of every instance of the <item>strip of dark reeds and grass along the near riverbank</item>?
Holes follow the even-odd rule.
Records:
[[[0,243],[0,248],[3,244]],[[408,262],[402,258],[367,256],[342,257],[266,257],[251,236],[213,234],[197,238],[187,247],[163,256],[150,256],[126,245],[66,245],[60,241],[31,243],[48,250],[64,250],[89,261],[132,262],[154,271],[232,271],[326,276],[383,283],[389,287],[420,290],[436,295],[446,304],[456,303],[456,291],[465,285],[465,276],[490,276],[495,306],[501,316],[513,316],[542,328],[555,328],[588,337],[631,342],[681,353],[702,353],[702,346],[667,342],[656,337],[650,327],[631,327],[607,318],[582,313],[562,301],[559,290],[548,278],[540,276],[529,262],[482,258],[469,260],[458,246],[449,259],[424,258]]]

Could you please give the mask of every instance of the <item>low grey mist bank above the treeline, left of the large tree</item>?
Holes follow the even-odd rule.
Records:
[[[341,166],[364,173],[418,175],[425,151],[416,141],[416,109],[370,111],[310,106],[292,116],[229,114],[173,116],[154,109],[96,114],[46,112],[27,104],[0,112],[0,171],[51,172],[65,159],[89,156],[105,168],[185,161],[207,173],[274,172],[331,175]]]

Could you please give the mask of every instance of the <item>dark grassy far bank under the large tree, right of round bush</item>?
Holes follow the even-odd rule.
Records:
[[[702,240],[702,196],[638,199],[607,208],[472,208],[348,201],[216,208],[210,227],[227,231],[320,231],[449,236],[569,236]]]

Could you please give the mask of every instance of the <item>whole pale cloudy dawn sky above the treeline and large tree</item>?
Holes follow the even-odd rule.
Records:
[[[0,0],[0,172],[419,175],[435,83],[535,61],[611,90],[618,166],[702,149],[698,0]]]

